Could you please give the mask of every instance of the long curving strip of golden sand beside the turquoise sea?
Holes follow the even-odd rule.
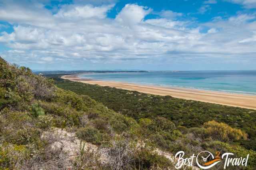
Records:
[[[256,110],[256,96],[254,95],[242,95],[216,91],[205,91],[186,88],[169,88],[160,86],[138,85],[133,83],[123,83],[115,81],[98,81],[92,79],[79,78],[77,75],[64,75],[62,79],[68,79],[71,81],[79,81],[88,84],[97,84],[101,86],[116,87],[126,90],[134,90],[142,93],[154,94],[154,95],[170,95],[172,97],[180,99],[188,99],[195,101],[203,101],[208,103],[216,103],[221,105],[228,105],[234,107],[242,107],[247,109]]]

